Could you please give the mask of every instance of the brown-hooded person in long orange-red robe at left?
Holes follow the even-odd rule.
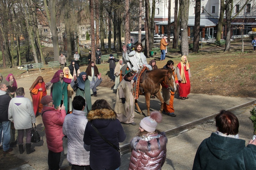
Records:
[[[41,113],[41,110],[43,109],[41,99],[43,96],[47,95],[43,77],[38,76],[37,79],[33,82],[32,86],[29,88],[29,90],[33,101],[34,113],[36,115],[37,112]]]

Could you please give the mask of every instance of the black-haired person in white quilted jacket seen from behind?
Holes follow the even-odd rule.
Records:
[[[90,170],[90,145],[84,144],[84,131],[88,122],[86,118],[85,99],[75,96],[73,112],[65,117],[63,134],[68,137],[67,160],[77,170]]]

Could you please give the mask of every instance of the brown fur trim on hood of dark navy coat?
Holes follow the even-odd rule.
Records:
[[[93,121],[95,119],[115,120],[116,118],[116,113],[109,109],[91,110],[87,115],[88,121]]]

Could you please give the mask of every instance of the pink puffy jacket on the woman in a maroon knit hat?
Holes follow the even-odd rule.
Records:
[[[42,120],[45,127],[45,136],[48,150],[58,153],[62,148],[62,125],[66,116],[66,110],[56,110],[54,107],[43,106]]]

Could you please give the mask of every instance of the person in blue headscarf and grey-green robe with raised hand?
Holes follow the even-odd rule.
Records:
[[[96,81],[90,81],[87,78],[87,74],[82,72],[76,81],[72,81],[71,87],[75,90],[76,96],[82,96],[85,99],[85,111],[91,110],[91,95],[90,89],[96,90],[96,87],[100,85],[102,81],[101,74],[97,76]]]

